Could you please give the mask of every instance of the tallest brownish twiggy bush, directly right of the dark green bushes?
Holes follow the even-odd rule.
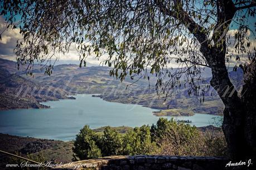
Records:
[[[151,129],[154,140],[160,147],[155,154],[197,156],[204,150],[199,130],[189,124],[160,118]]]

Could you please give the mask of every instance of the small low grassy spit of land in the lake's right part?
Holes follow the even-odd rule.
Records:
[[[192,116],[194,112],[189,109],[167,109],[160,111],[153,111],[156,116]]]

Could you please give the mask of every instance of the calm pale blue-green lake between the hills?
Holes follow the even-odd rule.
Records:
[[[138,127],[156,124],[159,119],[152,114],[156,109],[141,105],[112,103],[91,97],[91,94],[78,94],[75,98],[42,103],[50,105],[50,109],[0,111],[0,133],[68,141],[74,139],[85,124],[93,129],[106,125]],[[197,127],[214,125],[214,119],[220,118],[209,114],[176,117],[180,120],[189,119]]]

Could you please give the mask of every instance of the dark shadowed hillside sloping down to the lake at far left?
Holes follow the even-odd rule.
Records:
[[[11,74],[3,67],[0,68],[0,78],[0,110],[49,108],[39,102],[69,98],[65,90],[54,89],[51,86],[41,86],[37,82],[25,79],[20,75]]]

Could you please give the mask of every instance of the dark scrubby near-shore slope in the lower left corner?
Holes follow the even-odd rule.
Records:
[[[72,162],[73,158],[72,147],[73,142],[17,137],[0,133],[0,150],[13,154],[18,153],[22,157],[27,157],[27,154],[31,154],[35,158],[41,154],[46,161],[69,163]],[[5,164],[10,162],[12,157],[0,153],[0,159],[0,169],[5,169]]]

